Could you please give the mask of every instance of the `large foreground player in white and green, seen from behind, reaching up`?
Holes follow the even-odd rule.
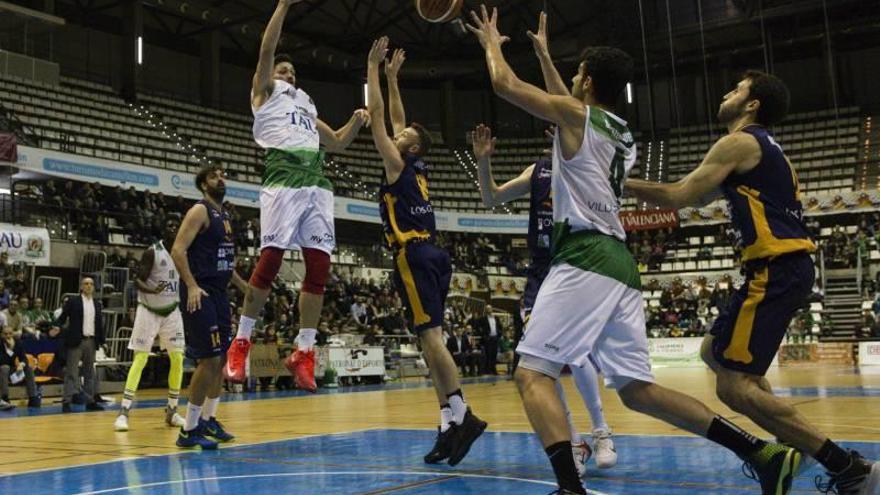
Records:
[[[497,9],[472,13],[495,92],[557,126],[553,140],[551,268],[517,346],[516,382],[526,413],[553,465],[557,493],[586,494],[570,455],[570,434],[556,381],[565,365],[592,360],[636,411],[727,447],[757,474],[765,494],[791,489],[799,454],[760,440],[696,399],[654,383],[648,361],[638,268],[626,248],[618,211],[635,143],[613,108],[632,77],[621,50],[584,50],[570,95],[520,80],[504,59]],[[557,80],[554,86],[562,83]]]

